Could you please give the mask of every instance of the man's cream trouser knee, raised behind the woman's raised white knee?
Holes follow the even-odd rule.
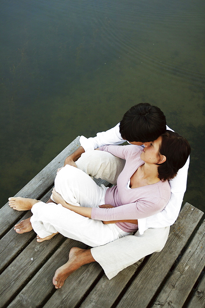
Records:
[[[125,166],[125,160],[111,153],[88,150],[75,162],[77,167],[96,179],[116,185],[117,178]]]

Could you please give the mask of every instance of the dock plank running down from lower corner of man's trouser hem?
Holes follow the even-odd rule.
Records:
[[[143,259],[138,262],[138,265],[128,266],[111,280],[109,280],[104,274],[98,283],[94,286],[90,294],[88,294],[80,308],[111,307],[129,280],[135,274]]]

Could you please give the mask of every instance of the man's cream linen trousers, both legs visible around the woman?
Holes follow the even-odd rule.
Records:
[[[117,177],[124,167],[124,160],[110,153],[89,150],[76,161],[78,168],[97,179],[116,184]],[[143,235],[137,231],[103,246],[91,249],[92,256],[105,271],[109,279],[113,278],[127,266],[141,258],[163,249],[170,227],[149,228]]]

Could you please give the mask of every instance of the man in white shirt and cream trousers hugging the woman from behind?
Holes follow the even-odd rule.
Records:
[[[94,138],[86,139],[81,136],[81,147],[66,158],[65,164],[80,168],[90,176],[116,184],[117,177],[124,167],[124,161],[112,154],[105,160],[102,151],[93,150],[106,144],[122,144],[125,140],[131,144],[143,145],[145,142],[156,140],[166,128],[170,129],[166,127],[166,118],[158,107],[147,103],[135,105],[125,113],[122,121],[114,128],[98,133]],[[186,190],[188,165],[189,159],[177,176],[170,181],[171,198],[165,209],[151,217],[138,219],[139,230],[134,236],[129,235],[91,249],[72,248],[68,262],[55,272],[53,278],[55,288],[61,288],[65,279],[83,264],[97,261],[111,279],[142,257],[161,251],[167,241],[169,226],[175,222],[179,214]],[[28,232],[32,229],[29,223],[30,220],[21,222],[14,229],[18,233]]]

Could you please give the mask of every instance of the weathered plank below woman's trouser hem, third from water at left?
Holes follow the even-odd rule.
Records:
[[[21,236],[21,235],[19,235]],[[23,236],[23,234],[22,234]],[[65,240],[57,234],[50,241],[38,243],[36,238],[18,255],[18,257],[0,275],[1,305],[10,298],[30,279],[44,264],[55,249]]]

